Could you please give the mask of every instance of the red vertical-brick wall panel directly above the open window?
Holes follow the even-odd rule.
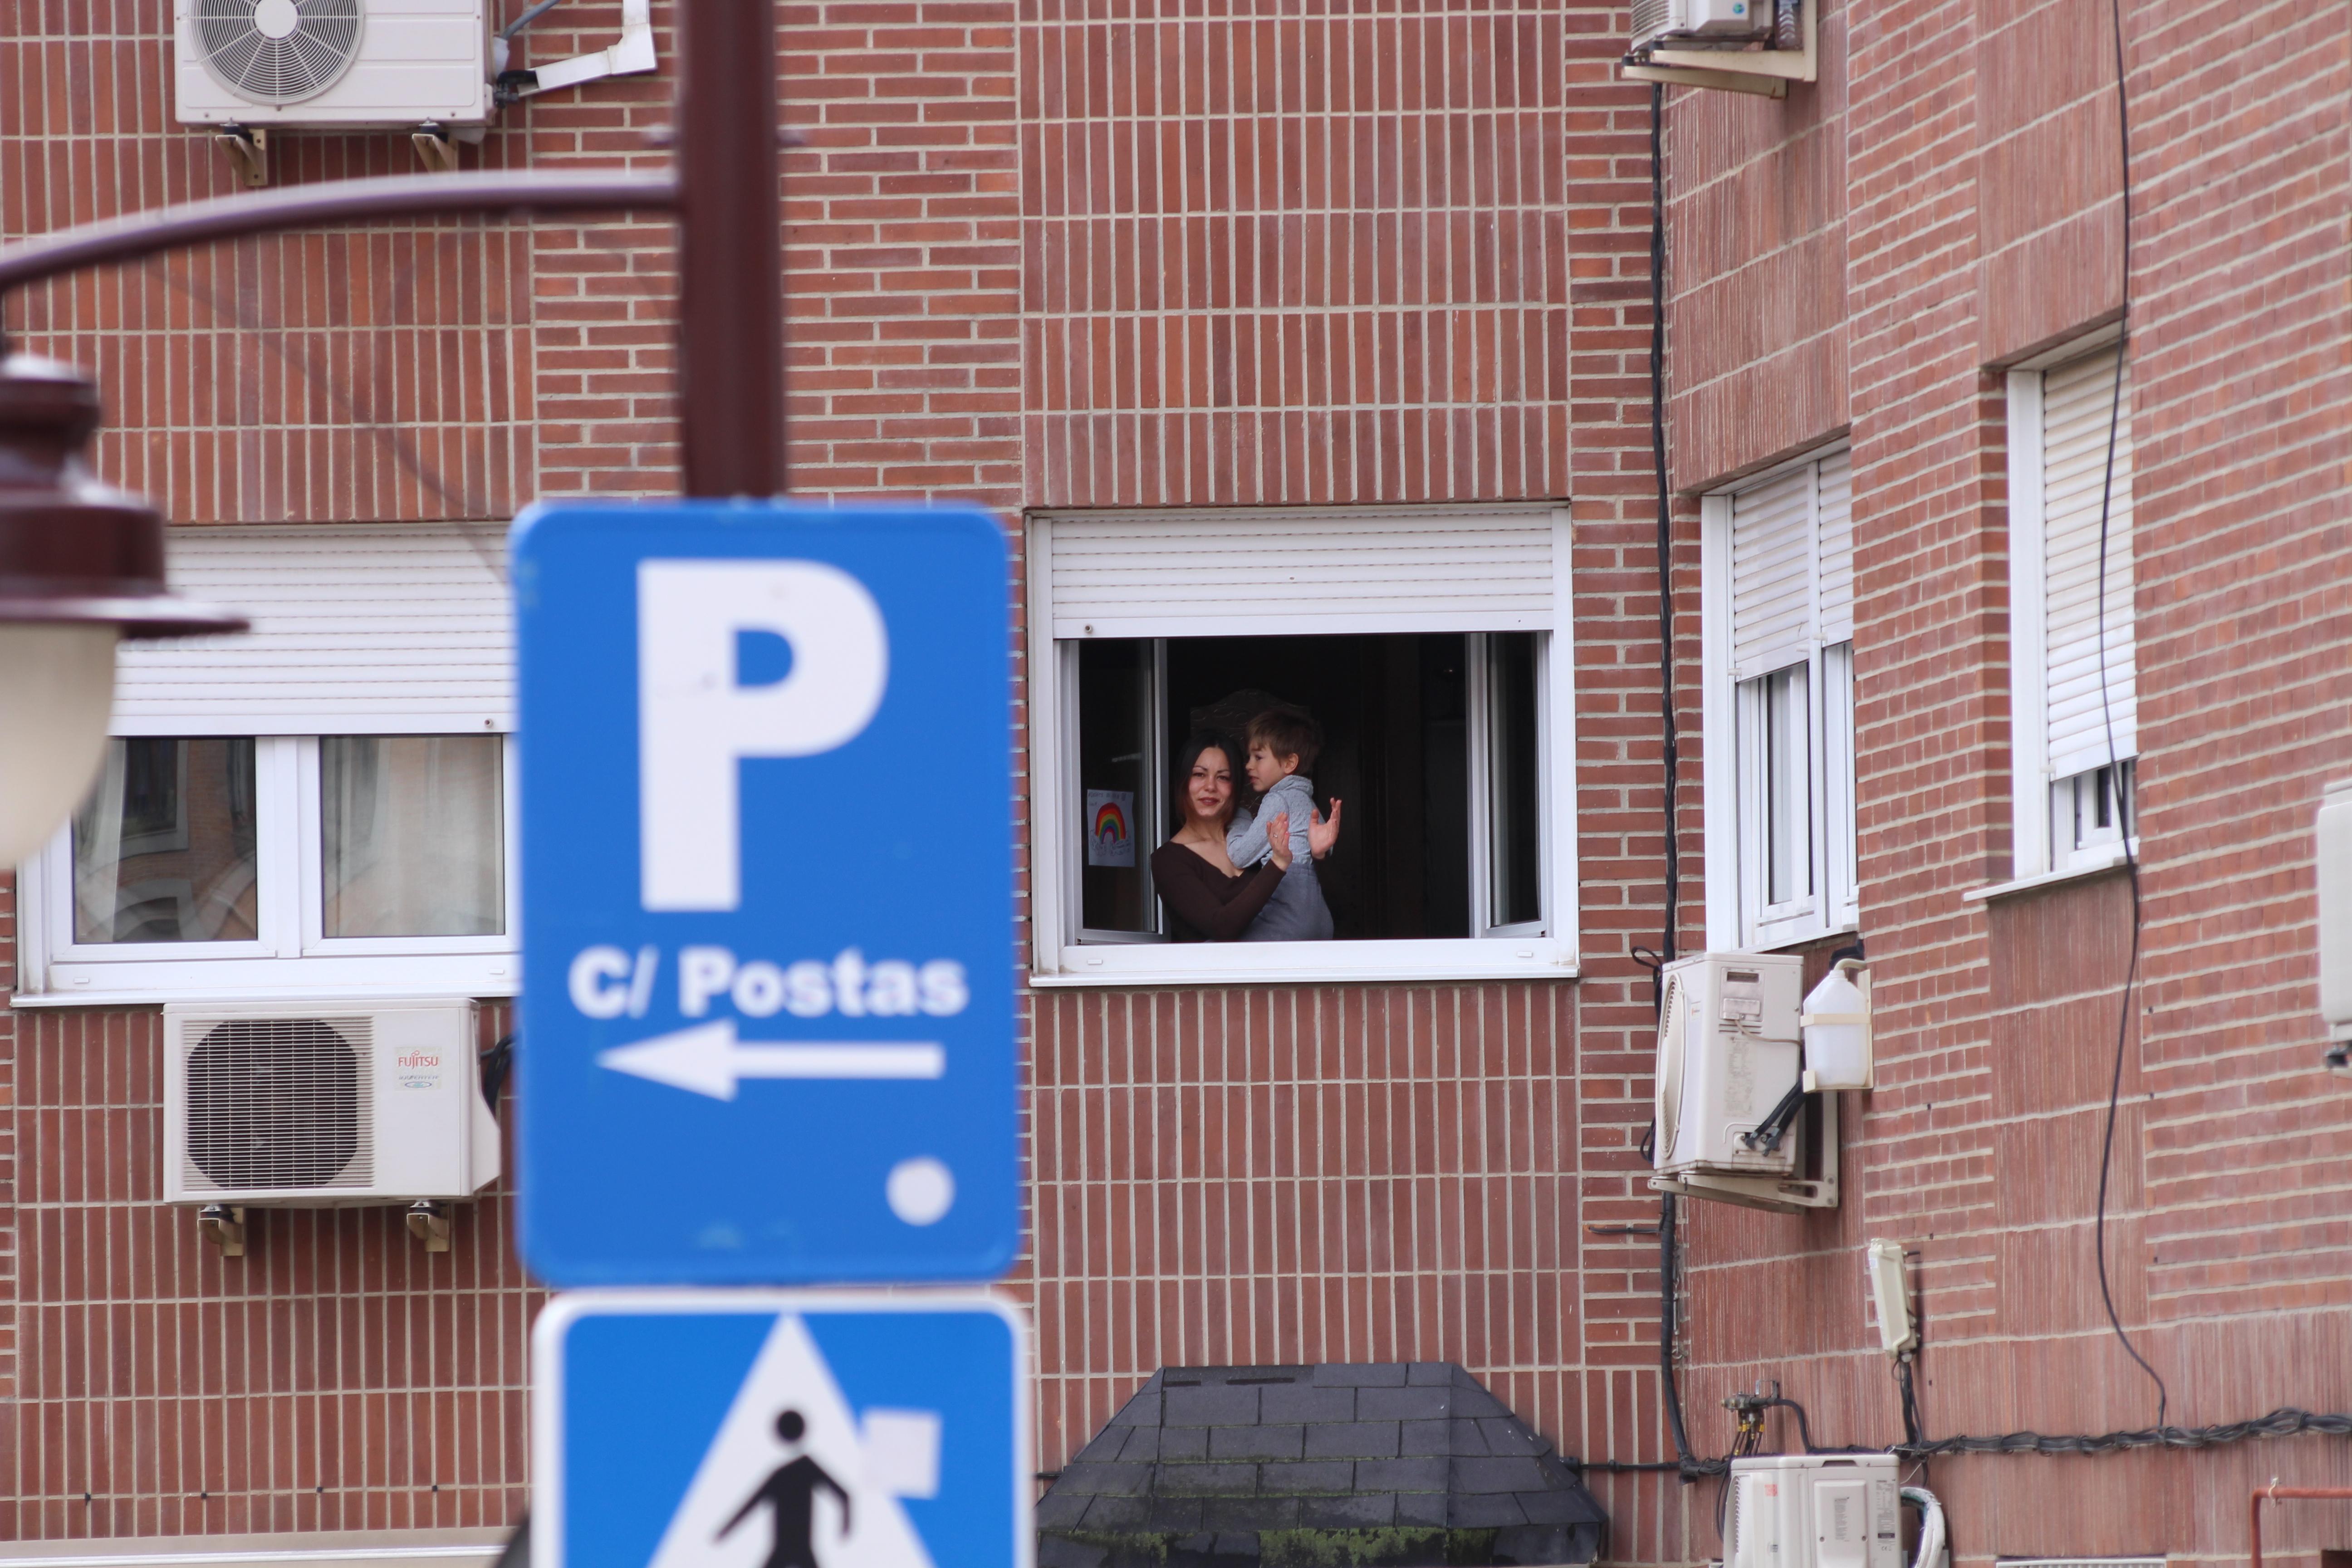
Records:
[[[1562,9],[1040,0],[1028,498],[1566,494]]]

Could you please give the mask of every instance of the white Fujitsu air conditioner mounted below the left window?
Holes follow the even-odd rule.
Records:
[[[167,1204],[341,1208],[499,1180],[470,1001],[172,1004]]]

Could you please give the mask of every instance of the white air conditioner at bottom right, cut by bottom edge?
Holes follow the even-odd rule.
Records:
[[[1724,1568],[1903,1568],[1896,1455],[1731,1460]]]

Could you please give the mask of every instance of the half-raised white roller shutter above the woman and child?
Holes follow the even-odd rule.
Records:
[[[1042,515],[1054,637],[1550,630],[1552,508]]]

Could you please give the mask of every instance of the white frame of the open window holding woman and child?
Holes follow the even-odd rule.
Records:
[[[1054,583],[1051,583],[1051,529],[1054,512],[1037,512],[1028,524],[1028,712],[1030,726],[1030,985],[1249,985],[1249,983],[1315,983],[1315,980],[1562,980],[1576,976],[1576,632],[1569,595],[1569,512],[1564,508],[1348,508],[1348,515],[1367,512],[1543,512],[1552,529],[1552,623],[1541,630],[1543,658],[1538,658],[1538,790],[1543,816],[1538,823],[1543,856],[1543,922],[1541,929],[1491,926],[1484,936],[1463,938],[1392,938],[1392,940],[1329,940],[1329,943],[1169,943],[1143,933],[1084,933],[1077,940],[1080,856],[1075,849],[1075,825],[1080,820],[1080,790],[1075,766],[1077,738],[1077,649],[1080,639],[1054,637]],[[1331,508],[1317,517],[1338,515]],[[1282,527],[1284,512],[1261,512],[1265,527]],[[1157,632],[1148,623],[1105,628],[1117,637],[1162,635],[1265,635],[1263,618],[1237,618],[1232,628],[1214,632],[1190,623],[1185,630]],[[1362,618],[1327,616],[1317,630],[1341,635],[1381,632],[1435,632],[1463,630],[1444,625],[1430,616],[1367,614]],[[1477,632],[1472,632],[1477,635]],[[1479,661],[1470,663],[1482,670]],[[1470,691],[1472,701],[1484,693],[1484,679]],[[1040,717],[1042,715],[1042,717]],[[1143,851],[1157,849],[1157,825],[1162,820],[1162,792],[1167,780],[1164,759],[1150,757],[1150,813],[1138,799],[1138,837],[1150,839]],[[1486,773],[1477,748],[1472,748],[1470,813],[1468,832],[1477,832],[1475,846],[1486,842]],[[1341,851],[1345,849],[1345,830]],[[1472,853],[1472,919],[1482,922],[1489,910],[1489,886],[1482,856]]]

